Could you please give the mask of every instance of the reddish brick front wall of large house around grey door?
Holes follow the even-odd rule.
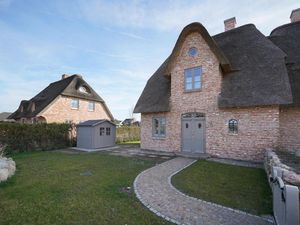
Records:
[[[198,55],[190,57],[190,47],[198,48]],[[184,92],[184,69],[202,67],[202,90]],[[145,149],[181,151],[181,115],[201,112],[206,115],[206,152],[212,155],[244,160],[262,160],[266,147],[278,144],[279,108],[227,109],[218,108],[222,74],[219,62],[202,36],[187,36],[171,69],[171,111],[163,114],[142,114],[141,147]],[[166,116],[166,138],[152,137],[152,117]],[[237,135],[228,133],[228,120],[239,121]]]

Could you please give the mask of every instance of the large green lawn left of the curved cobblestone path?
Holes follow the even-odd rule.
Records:
[[[120,192],[155,160],[59,152],[13,158],[17,172],[0,184],[1,225],[168,224]],[[92,175],[81,176],[85,171]]]

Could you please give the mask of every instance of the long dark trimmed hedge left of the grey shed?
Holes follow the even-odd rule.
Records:
[[[0,144],[7,145],[6,153],[32,150],[51,150],[71,146],[70,124],[0,124]]]

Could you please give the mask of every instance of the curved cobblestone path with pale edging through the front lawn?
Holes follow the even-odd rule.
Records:
[[[258,216],[186,196],[175,189],[171,177],[193,162],[193,159],[175,158],[143,171],[134,181],[137,197],[152,212],[176,224],[273,224]]]

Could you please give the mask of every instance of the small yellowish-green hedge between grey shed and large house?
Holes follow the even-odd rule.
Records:
[[[138,126],[123,126],[117,128],[117,143],[127,141],[139,141],[141,128]]]

